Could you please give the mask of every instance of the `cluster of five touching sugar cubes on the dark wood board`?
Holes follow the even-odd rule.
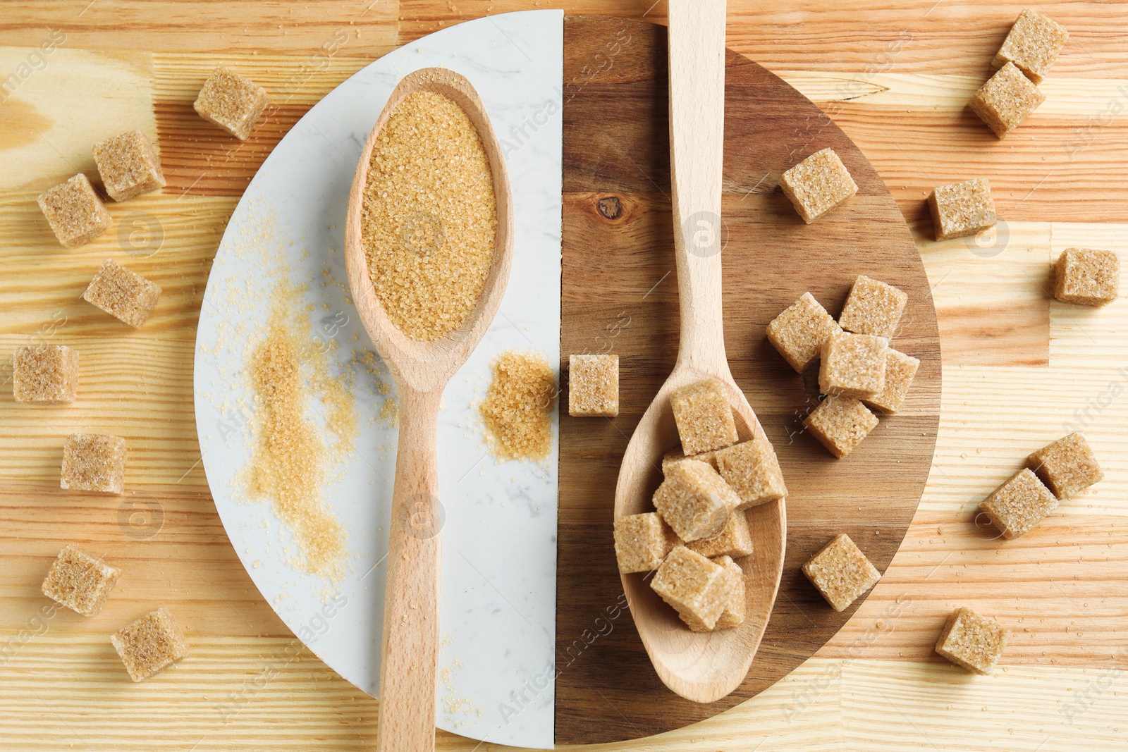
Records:
[[[826,398],[803,424],[835,457],[849,454],[876,427],[870,407],[892,415],[905,402],[920,361],[889,340],[907,301],[893,285],[858,275],[837,321],[807,292],[768,324],[768,342],[797,373],[820,361]]]

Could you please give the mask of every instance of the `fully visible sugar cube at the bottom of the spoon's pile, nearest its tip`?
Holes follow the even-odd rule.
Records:
[[[724,567],[685,546],[670,551],[650,581],[663,601],[703,631],[716,626],[729,602],[730,585]]]

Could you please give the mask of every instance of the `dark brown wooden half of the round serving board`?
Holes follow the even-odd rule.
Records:
[[[846,622],[800,566],[839,532],[882,572],[916,511],[940,419],[940,344],[928,281],[905,220],[862,152],[814,104],[728,53],[725,344],[737,382],[779,454],[787,556],[748,679],[696,705],[668,690],[632,622],[615,565],[613,503],[635,424],[673,368],[678,300],[670,218],[666,28],[617,18],[564,25],[564,232],[561,353],[619,356],[619,417],[561,412],[556,743],[636,738],[711,717],[770,687]],[[831,147],[858,193],[804,224],[778,176]],[[909,295],[892,346],[920,359],[905,409],[844,460],[803,432],[814,374],[799,375],[765,337],[810,291],[837,316],[855,276]],[[564,365],[564,363],[562,363]],[[658,478],[654,479],[658,484]],[[881,584],[879,583],[878,587]]]

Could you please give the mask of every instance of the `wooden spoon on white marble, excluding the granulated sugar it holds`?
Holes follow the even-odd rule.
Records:
[[[478,132],[493,171],[497,233],[493,262],[477,306],[457,330],[431,342],[407,337],[376,297],[361,244],[361,209],[369,160],[396,107],[416,91],[452,99]],[[396,86],[364,144],[349,194],[345,260],[356,310],[372,344],[388,364],[399,396],[399,446],[388,533],[384,638],[380,646],[380,752],[434,750],[435,663],[439,653],[439,529],[435,474],[439,399],[493,321],[509,282],[513,251],[513,203],[497,136],[470,82],[442,68],[411,73]]]

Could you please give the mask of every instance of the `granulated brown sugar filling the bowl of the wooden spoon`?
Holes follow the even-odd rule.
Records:
[[[485,287],[497,230],[482,139],[451,99],[418,91],[372,149],[361,241],[376,295],[413,339],[457,329]]]

